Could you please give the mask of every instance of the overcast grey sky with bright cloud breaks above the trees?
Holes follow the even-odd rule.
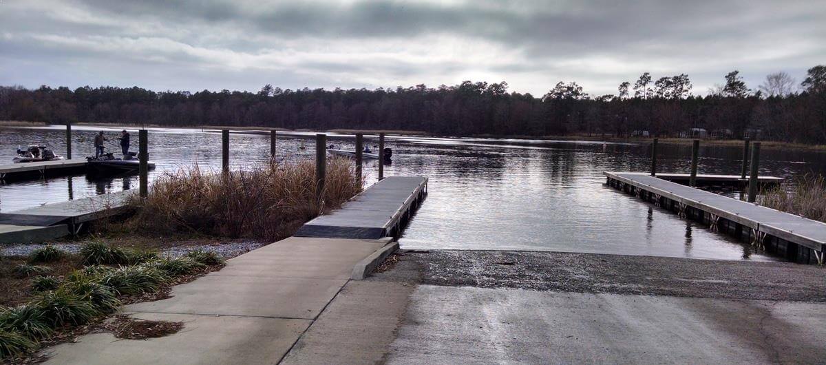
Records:
[[[0,0],[0,85],[257,91],[558,81],[648,71],[704,94],[826,64],[822,0]]]

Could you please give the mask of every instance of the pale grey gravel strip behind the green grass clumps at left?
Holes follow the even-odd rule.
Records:
[[[204,249],[215,252],[224,258],[234,258],[253,249],[258,249],[268,243],[260,241],[240,241],[220,244],[192,244],[186,246],[172,246],[159,249],[159,253],[171,257],[181,257],[190,251]],[[70,254],[76,254],[83,244],[53,244],[56,248],[62,249]],[[32,251],[44,247],[45,244],[5,244],[0,246],[2,256],[28,256]]]

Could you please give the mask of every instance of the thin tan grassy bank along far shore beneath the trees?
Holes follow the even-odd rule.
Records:
[[[36,122],[36,121],[0,121],[0,127],[26,127],[26,126],[54,126],[54,124],[45,123],[45,122]],[[222,129],[229,129],[229,130],[259,130],[259,131],[268,131],[268,130],[277,130],[282,132],[319,132],[319,133],[339,133],[339,134],[356,134],[356,133],[363,133],[363,134],[378,134],[380,132],[387,133],[388,135],[411,135],[411,136],[432,136],[432,137],[439,137],[439,138],[491,138],[491,139],[501,139],[501,140],[586,140],[586,141],[605,141],[605,142],[625,142],[625,143],[638,143],[638,144],[648,144],[651,143],[653,137],[613,137],[613,136],[601,136],[601,135],[579,135],[579,134],[572,134],[572,135],[434,135],[427,133],[422,130],[352,130],[352,129],[333,129],[333,130],[309,130],[309,129],[298,129],[298,130],[289,130],[285,128],[268,128],[264,126],[160,126],[155,124],[146,124],[146,125],[134,125],[134,124],[122,124],[122,123],[91,123],[91,122],[78,122],[74,123],[73,126],[105,126],[105,127],[122,127],[122,128],[142,128],[142,127],[150,127],[150,128],[169,128],[169,129],[211,129],[211,130],[222,130]],[[676,137],[659,137],[658,143],[660,145],[691,145],[691,141],[694,140],[693,138],[676,138]],[[714,146],[714,147],[734,147],[734,146],[742,146],[743,140],[708,140],[708,139],[700,139],[701,145],[705,146]],[[806,150],[806,151],[826,151],[826,145],[806,145],[800,143],[792,143],[792,142],[780,142],[780,141],[772,141],[772,140],[760,140],[761,146],[763,149],[797,149],[797,150]]]

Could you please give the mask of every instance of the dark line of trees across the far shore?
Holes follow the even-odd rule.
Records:
[[[643,73],[616,94],[589,95],[560,82],[541,97],[508,84],[473,83],[374,90],[154,92],[144,88],[0,87],[0,120],[78,121],[161,126],[261,126],[287,129],[415,130],[435,135],[709,135],[826,143],[826,66],[798,84],[767,75],[755,90],[738,71],[707,95],[691,94],[681,73]],[[692,130],[693,129],[693,130]]]

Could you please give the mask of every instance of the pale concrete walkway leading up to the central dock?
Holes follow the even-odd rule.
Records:
[[[169,299],[124,309],[135,318],[181,321],[178,334],[147,340],[88,334],[48,349],[47,363],[278,363],[349,281],[354,265],[389,240],[291,237],[269,244],[174,287]]]

